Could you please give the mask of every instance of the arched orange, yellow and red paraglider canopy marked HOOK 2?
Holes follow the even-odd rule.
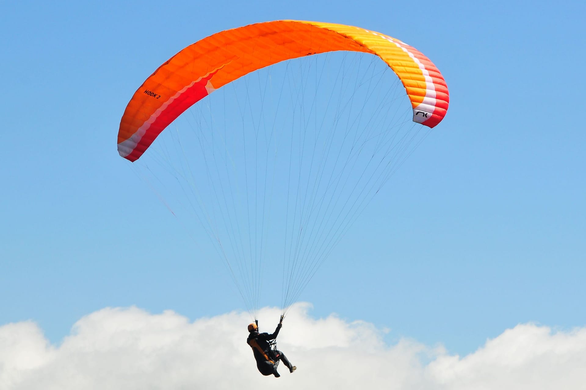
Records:
[[[434,127],[448,109],[440,71],[413,47],[384,34],[332,23],[276,20],[206,37],[159,67],[132,96],[120,121],[118,151],[135,161],[189,108],[254,70],[291,58],[348,50],[379,56],[398,75],[414,109],[414,121]]]

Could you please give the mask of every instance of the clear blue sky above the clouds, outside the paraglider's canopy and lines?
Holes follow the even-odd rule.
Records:
[[[583,2],[4,2],[0,325],[54,343],[107,306],[243,305],[116,151],[132,93],[219,30],[274,19],[397,37],[440,68],[447,117],[301,296],[465,354],[518,323],[584,326]],[[229,13],[226,13],[227,10]]]

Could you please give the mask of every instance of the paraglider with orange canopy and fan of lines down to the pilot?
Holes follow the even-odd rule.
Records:
[[[124,111],[118,153],[174,215],[185,210],[185,225],[199,225],[188,229],[203,229],[255,320],[263,284],[271,298],[281,289],[284,316],[448,102],[438,68],[401,40],[333,23],[256,23],[156,69]]]

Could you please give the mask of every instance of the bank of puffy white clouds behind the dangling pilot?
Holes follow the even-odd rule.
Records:
[[[411,340],[387,345],[372,324],[313,319],[308,309],[289,310],[279,346],[298,371],[281,366],[279,379],[256,371],[247,313],[190,322],[171,311],[106,308],[81,318],[60,346],[33,322],[4,325],[0,389],[586,388],[586,329],[518,325],[459,357]],[[261,331],[272,332],[279,315],[261,310]]]

